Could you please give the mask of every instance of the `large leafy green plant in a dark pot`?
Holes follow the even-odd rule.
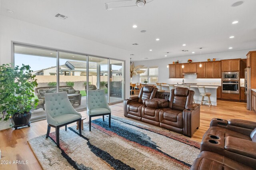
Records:
[[[38,99],[32,100],[38,85],[35,77],[29,65],[0,65],[0,121],[12,118],[15,129],[30,127],[31,109],[38,103]]]

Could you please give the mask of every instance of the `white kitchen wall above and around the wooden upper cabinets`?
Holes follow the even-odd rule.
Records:
[[[236,58],[246,58],[248,51],[255,51],[256,49],[246,49],[241,51],[229,51],[224,53],[211,53],[200,55],[188,55],[184,57],[166,58],[166,59],[156,59],[156,60],[146,60],[146,61],[134,61],[134,65],[144,65],[144,67],[158,66],[158,82],[161,83],[181,83],[182,79],[169,79],[169,69],[166,67],[167,64],[172,64],[173,61],[179,60],[179,63],[187,63],[188,59],[192,59],[193,62],[207,61],[208,58],[216,58],[216,61],[221,59],[236,59]],[[185,82],[210,82],[210,83],[221,83],[221,79],[196,79],[196,75],[185,75]],[[140,76],[136,75],[132,77],[132,83],[140,82]]]

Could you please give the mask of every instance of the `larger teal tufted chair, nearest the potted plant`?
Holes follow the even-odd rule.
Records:
[[[82,116],[71,105],[70,101],[68,100],[67,92],[65,91],[60,93],[48,93],[45,94],[44,97],[46,119],[48,123],[46,138],[48,138],[50,134],[51,127],[54,127],[56,131],[56,143],[57,146],[60,146],[60,127],[65,126],[65,130],[67,130],[68,124],[77,121],[79,134],[82,135]]]

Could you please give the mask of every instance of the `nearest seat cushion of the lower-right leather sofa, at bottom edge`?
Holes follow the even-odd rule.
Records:
[[[198,155],[190,170],[252,170],[252,168],[223,155],[203,151]]]

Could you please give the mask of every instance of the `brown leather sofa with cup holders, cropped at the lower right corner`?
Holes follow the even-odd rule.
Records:
[[[202,138],[200,150],[201,153],[207,152],[207,154],[200,154],[191,169],[207,166],[207,161],[214,162],[216,166],[212,169],[216,170],[224,167],[254,169],[256,167],[256,123],[240,119],[214,118]],[[215,156],[218,158],[214,159]]]

